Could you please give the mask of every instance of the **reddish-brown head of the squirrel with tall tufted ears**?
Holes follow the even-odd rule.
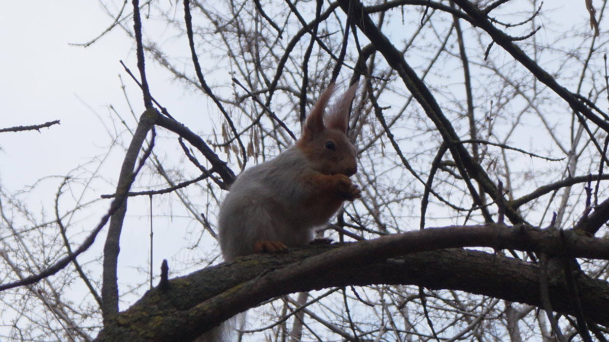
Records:
[[[296,144],[319,172],[352,176],[357,172],[357,152],[347,138],[347,129],[357,83],[325,111],[333,90],[334,83],[331,83],[317,100]]]

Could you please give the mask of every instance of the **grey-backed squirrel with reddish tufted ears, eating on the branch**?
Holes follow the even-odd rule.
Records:
[[[361,197],[351,183],[356,149],[347,138],[351,86],[325,111],[334,83],[322,93],[294,145],[250,167],[231,185],[220,205],[219,242],[224,261],[259,252],[305,246],[315,228],[328,223],[344,201]],[[197,338],[229,342],[236,316]]]

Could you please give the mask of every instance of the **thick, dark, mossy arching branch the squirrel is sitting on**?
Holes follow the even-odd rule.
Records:
[[[108,321],[98,341],[190,340],[230,316],[275,296],[326,287],[412,284],[462,290],[539,306],[538,267],[461,246],[546,251],[609,259],[609,241],[526,226],[451,226],[343,246],[309,246],[284,256],[254,255],[172,279]],[[405,256],[406,255],[406,256]],[[574,314],[562,274],[548,279],[554,310]],[[590,322],[609,326],[609,284],[581,276]],[[196,323],[196,324],[193,324]]]

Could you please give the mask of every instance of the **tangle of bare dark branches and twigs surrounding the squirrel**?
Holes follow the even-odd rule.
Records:
[[[62,233],[27,257],[3,240],[3,301],[19,312],[26,296],[49,320],[9,338],[192,340],[250,309],[243,340],[607,341],[606,4],[581,1],[581,18],[537,0],[106,4],[107,31],[135,42],[137,63],[124,66],[142,109],[130,96],[113,108],[132,134],[107,212],[81,242],[60,210],[23,228],[2,215],[19,246]],[[147,77],[157,67],[201,108],[166,107]],[[220,263],[221,198],[240,170],[292,144],[331,82],[361,83],[350,132],[363,197],[320,232],[339,243]],[[78,181],[61,184],[56,203]],[[200,254],[155,245],[169,254],[157,286],[125,290],[127,204],[162,196],[175,203],[163,215],[191,220],[183,250]],[[11,198],[1,208],[21,208]],[[79,260],[100,231],[98,282]],[[77,279],[89,299],[68,305],[62,289]]]

